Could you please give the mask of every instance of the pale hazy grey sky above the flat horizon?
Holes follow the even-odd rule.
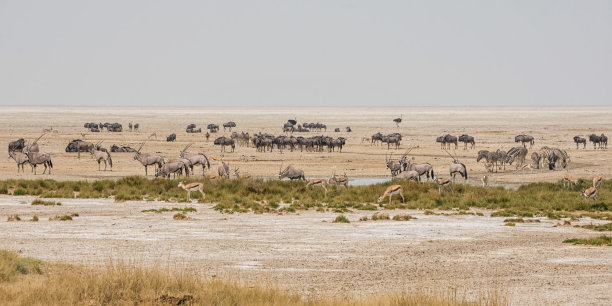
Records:
[[[612,1],[0,0],[0,105],[612,105]]]

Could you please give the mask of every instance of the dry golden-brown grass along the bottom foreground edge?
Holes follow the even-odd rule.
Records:
[[[444,296],[392,293],[367,298],[304,300],[294,293],[210,279],[185,269],[109,263],[104,268],[55,265],[0,251],[0,300],[8,305],[505,305],[499,294],[466,302]],[[5,275],[0,274],[0,275]]]

